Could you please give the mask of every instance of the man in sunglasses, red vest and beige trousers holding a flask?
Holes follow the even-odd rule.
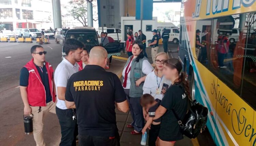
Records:
[[[32,59],[20,71],[20,93],[24,103],[24,115],[33,115],[33,135],[37,146],[45,146],[43,139],[43,117],[55,111],[55,84],[53,68],[45,61],[44,48],[34,45]]]

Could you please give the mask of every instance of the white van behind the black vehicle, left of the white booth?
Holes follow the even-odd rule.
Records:
[[[121,38],[122,38],[121,29],[100,27],[100,28],[96,29],[96,31],[98,32],[99,37],[101,37],[100,36],[101,32],[106,32],[106,33],[108,33],[109,37],[112,37],[115,41],[121,42]]]

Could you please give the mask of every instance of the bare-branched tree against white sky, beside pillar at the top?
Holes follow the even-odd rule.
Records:
[[[71,16],[81,22],[83,26],[87,26],[87,1],[93,3],[93,9],[97,7],[96,1],[93,0],[71,0],[71,10],[69,11]],[[94,21],[98,20],[98,13],[93,12]]]

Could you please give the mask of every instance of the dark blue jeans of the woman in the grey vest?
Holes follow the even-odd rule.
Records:
[[[131,112],[131,117],[133,119],[131,126],[134,127],[134,130],[137,132],[141,132],[144,127],[144,117],[142,106],[140,105],[140,97],[130,97],[129,91],[130,89],[124,89],[127,101],[129,103],[129,108]]]

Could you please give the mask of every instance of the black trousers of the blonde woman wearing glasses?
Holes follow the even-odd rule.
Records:
[[[156,140],[159,134],[160,124],[153,125],[151,124],[151,128],[148,133],[148,146],[156,146]]]

